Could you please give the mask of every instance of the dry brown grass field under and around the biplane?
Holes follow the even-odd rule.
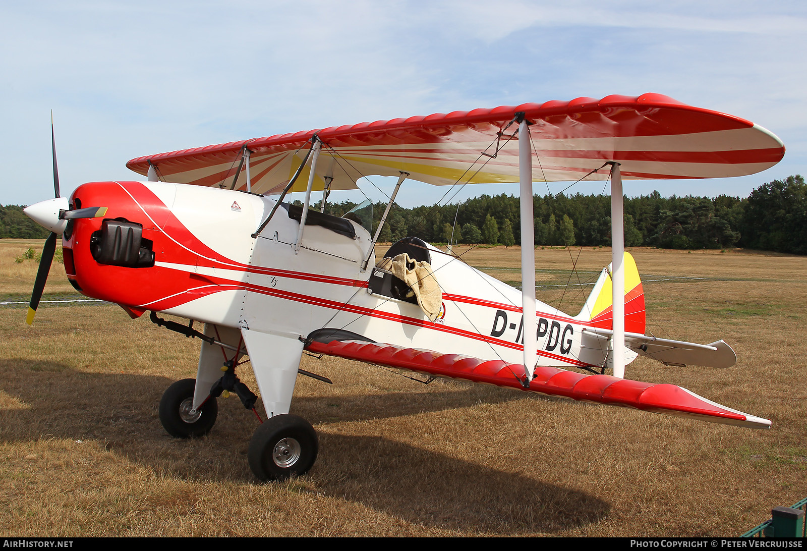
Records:
[[[30,292],[36,266],[14,262],[27,246],[0,242],[6,297]],[[517,284],[519,254],[476,247],[462,259]],[[303,356],[303,368],[335,383],[301,376],[292,402],[319,432],[319,459],[305,477],[259,484],[246,461],[257,422],[237,398],[220,399],[216,426],[198,440],[169,437],[157,418],[165,388],[194,376],[198,341],[117,306],[44,304],[32,328],[24,305],[5,307],[0,534],[736,536],[807,496],[807,258],[633,255],[648,329],[724,338],[739,361],[712,370],[638,360],[627,376],[767,417],[770,431],[456,381],[420,385]],[[572,261],[585,282],[609,257],[539,248],[539,297],[576,313],[591,287],[563,291],[578,280]],[[71,292],[54,265],[46,293]]]

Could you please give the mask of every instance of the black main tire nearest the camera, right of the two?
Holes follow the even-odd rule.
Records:
[[[307,473],[319,450],[311,423],[297,415],[275,415],[249,441],[249,469],[263,482],[286,480]]]

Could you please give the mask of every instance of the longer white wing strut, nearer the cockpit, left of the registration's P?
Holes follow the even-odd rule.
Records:
[[[529,147],[529,124],[518,126],[518,179],[521,196],[521,307],[524,324],[524,368],[533,378],[535,371],[535,234],[533,233],[533,155]]]

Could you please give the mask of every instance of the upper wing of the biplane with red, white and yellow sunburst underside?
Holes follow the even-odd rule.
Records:
[[[625,179],[742,176],[770,168],[784,156],[779,138],[748,120],[645,94],[321,128],[147,155],[127,166],[146,175],[151,162],[165,181],[230,187],[247,147],[253,152],[253,191],[279,193],[316,133],[324,148],[315,189],[323,188],[326,176],[333,179],[332,189],[349,189],[362,176],[397,176],[399,171],[436,185],[517,182],[518,147],[510,143],[518,139],[513,135],[517,125],[508,124],[518,112],[533,123],[530,140],[537,180],[576,180],[605,161],[620,162]],[[306,170],[293,191],[305,189]],[[592,176],[607,177],[607,170]],[[244,183],[242,175],[238,186]]]

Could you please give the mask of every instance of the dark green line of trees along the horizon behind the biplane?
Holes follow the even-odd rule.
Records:
[[[325,212],[341,216],[355,207],[329,203]],[[378,227],[386,204],[373,208]],[[318,208],[319,204],[312,205]],[[459,207],[459,208],[458,208]],[[605,195],[533,196],[537,246],[608,246],[611,198]],[[456,205],[393,206],[379,241],[415,236],[433,243],[521,243],[519,199],[479,196]],[[456,223],[455,223],[456,218]],[[0,206],[0,238],[46,238],[48,230],[23,214],[23,207]],[[807,185],[801,175],[773,180],[745,198],[662,197],[659,191],[625,197],[625,246],[663,249],[749,249],[807,254]]]

